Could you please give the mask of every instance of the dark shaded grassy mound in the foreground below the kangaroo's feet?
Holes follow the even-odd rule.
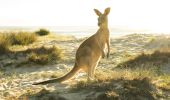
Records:
[[[36,94],[24,94],[20,98],[28,100],[158,100],[168,97],[159,94],[161,90],[151,83],[148,78],[141,79],[111,79],[109,81],[98,81],[91,83],[78,83],[69,92],[59,93],[41,90]],[[170,91],[170,90],[168,90]],[[76,97],[69,98],[68,94]]]

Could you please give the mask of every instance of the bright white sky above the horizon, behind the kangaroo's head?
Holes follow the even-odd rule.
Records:
[[[170,32],[169,0],[0,0],[0,26],[97,26],[93,9],[110,7],[110,27]]]

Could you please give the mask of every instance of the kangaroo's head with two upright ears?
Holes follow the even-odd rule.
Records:
[[[99,27],[107,26],[108,24],[107,15],[110,12],[110,8],[106,8],[103,14],[97,9],[94,9],[94,11],[98,15],[98,26]]]

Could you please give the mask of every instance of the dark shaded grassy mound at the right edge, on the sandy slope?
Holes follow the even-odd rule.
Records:
[[[117,68],[154,68],[169,62],[169,51],[155,51],[152,54],[142,53],[135,58],[120,63]]]

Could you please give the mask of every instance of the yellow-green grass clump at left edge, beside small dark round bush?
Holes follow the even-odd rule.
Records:
[[[37,40],[34,33],[17,32],[17,33],[0,33],[0,54],[8,53],[12,45],[28,45]]]

